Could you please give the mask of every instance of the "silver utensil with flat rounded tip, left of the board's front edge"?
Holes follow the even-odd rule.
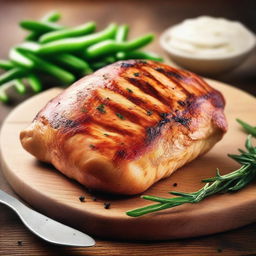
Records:
[[[2,190],[0,203],[14,210],[30,231],[47,242],[82,247],[95,245],[94,239],[90,236],[32,210]]]

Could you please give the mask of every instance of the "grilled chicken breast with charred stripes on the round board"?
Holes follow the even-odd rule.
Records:
[[[87,188],[137,194],[207,152],[227,130],[220,92],[162,63],[120,61],[52,99],[23,147]]]

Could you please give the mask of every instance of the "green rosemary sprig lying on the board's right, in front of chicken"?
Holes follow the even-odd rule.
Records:
[[[246,150],[244,151],[239,149],[240,155],[228,155],[241,164],[239,169],[226,175],[221,175],[217,169],[216,176],[203,180],[203,182],[207,183],[203,188],[196,192],[169,192],[170,194],[178,197],[163,198],[147,195],[141,196],[143,199],[158,203],[128,211],[126,214],[131,217],[139,217],[144,214],[172,208],[185,203],[198,203],[204,198],[217,193],[234,192],[242,189],[256,177],[256,147],[253,147],[251,137],[252,136],[249,135],[246,139]]]

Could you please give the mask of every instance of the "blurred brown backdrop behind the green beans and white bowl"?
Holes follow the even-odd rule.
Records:
[[[168,57],[159,45],[159,35],[168,27],[187,18],[200,15],[224,17],[242,22],[256,33],[255,0],[94,0],[94,1],[0,1],[0,58],[7,58],[11,46],[20,43],[27,34],[18,26],[23,19],[38,20],[51,10],[61,12],[59,23],[76,26],[95,21],[101,29],[110,22],[129,24],[129,37],[152,32],[156,39],[147,49]],[[256,52],[232,72],[214,79],[232,84],[256,95]]]

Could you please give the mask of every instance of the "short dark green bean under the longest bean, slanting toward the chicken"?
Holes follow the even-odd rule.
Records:
[[[75,55],[69,53],[60,53],[53,59],[66,65],[67,67],[70,67],[78,71],[83,71],[83,74],[89,74],[92,72],[89,64]]]

